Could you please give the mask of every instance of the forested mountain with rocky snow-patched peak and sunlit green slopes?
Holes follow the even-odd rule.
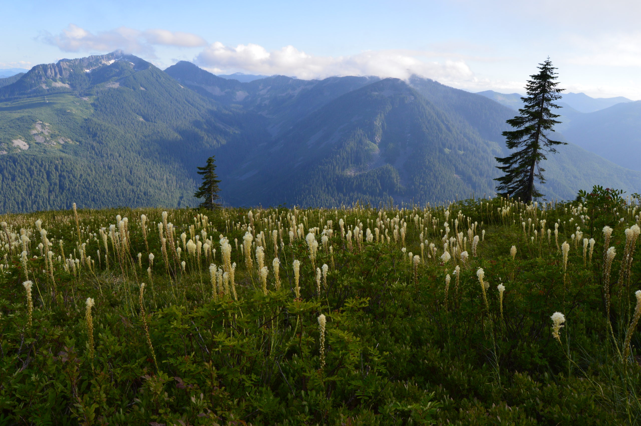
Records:
[[[0,89],[0,211],[194,205],[191,170],[242,140],[242,113],[130,59],[42,65]]]

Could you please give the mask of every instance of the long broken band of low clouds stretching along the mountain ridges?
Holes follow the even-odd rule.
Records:
[[[156,46],[179,48],[203,47],[194,63],[215,74],[246,72],[250,74],[282,74],[300,79],[322,79],[331,76],[379,76],[408,79],[412,75],[435,79],[445,85],[478,91],[487,88],[520,90],[521,83],[490,81],[478,78],[466,60],[479,58],[411,49],[371,50],[344,56],[315,56],[287,45],[268,51],[258,44],[239,44],[236,47],[221,42],[208,44],[193,33],[119,27],[92,33],[75,24],[58,35],[44,33],[40,39],[64,52],[110,52],[122,49],[156,63]],[[160,63],[156,65],[161,66]]]

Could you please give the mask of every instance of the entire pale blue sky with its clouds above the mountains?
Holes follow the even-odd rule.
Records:
[[[420,74],[521,92],[548,55],[562,87],[641,99],[641,2],[21,1],[3,4],[0,69],[122,48],[165,68],[299,78]]]

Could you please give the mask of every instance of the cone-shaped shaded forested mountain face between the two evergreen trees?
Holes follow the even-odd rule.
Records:
[[[456,126],[398,79],[372,83],[301,120],[240,168],[235,202],[340,205],[443,201],[492,192],[497,144]]]

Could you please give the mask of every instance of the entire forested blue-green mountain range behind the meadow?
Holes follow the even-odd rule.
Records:
[[[1,83],[0,211],[194,206],[196,166],[212,154],[234,206],[494,195],[514,115],[417,76],[238,81],[121,51]],[[544,164],[548,199],[592,184],[641,190],[640,172],[572,143],[559,151]]]

